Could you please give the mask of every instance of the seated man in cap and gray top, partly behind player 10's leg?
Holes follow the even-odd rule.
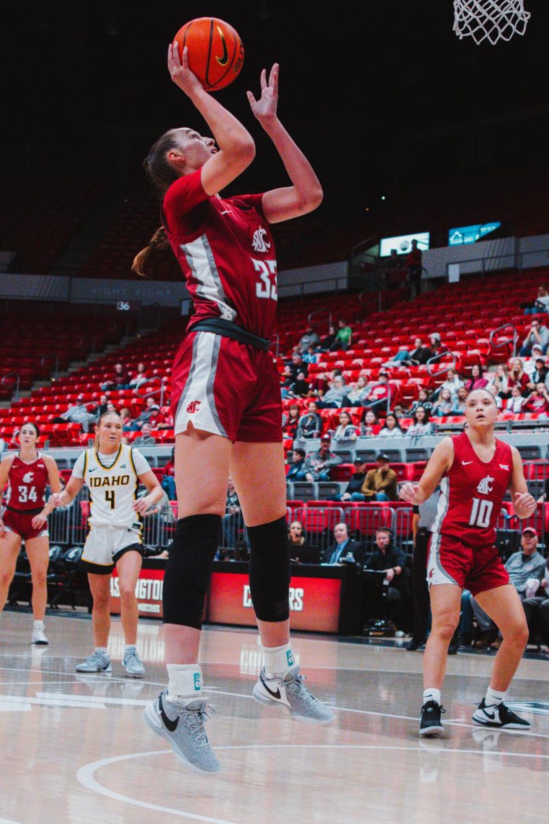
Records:
[[[505,569],[509,573],[510,583],[519,593],[522,602],[530,594],[528,582],[537,579],[541,584],[545,574],[545,558],[537,551],[537,531],[533,527],[524,527],[520,539],[520,551],[509,555],[505,563]],[[477,618],[477,625],[482,630],[481,638],[475,644],[476,648],[486,649],[493,642],[492,646],[500,648],[501,636],[497,638],[497,628],[495,623],[481,609],[474,597],[471,597],[471,606],[474,616]],[[527,616],[528,617],[528,616]]]

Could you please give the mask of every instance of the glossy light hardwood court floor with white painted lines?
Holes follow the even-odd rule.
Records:
[[[74,672],[91,651],[89,620],[47,618],[48,648],[30,646],[30,625],[20,613],[0,620],[0,824],[547,822],[548,661],[524,660],[509,695],[537,702],[525,713],[532,732],[505,733],[471,723],[491,658],[450,658],[444,740],[420,742],[421,653],[295,639],[309,686],[337,708],[335,723],[317,728],[250,698],[261,666],[254,633],[206,630],[209,731],[222,765],[208,779],[184,770],[142,722],[165,683],[160,625],[140,625],[142,681],[123,677],[119,621],[112,677]]]

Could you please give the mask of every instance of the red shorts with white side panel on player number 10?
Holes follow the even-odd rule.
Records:
[[[434,532],[430,538],[427,583],[456,583],[473,595],[509,583],[509,573],[494,545],[468,546]]]

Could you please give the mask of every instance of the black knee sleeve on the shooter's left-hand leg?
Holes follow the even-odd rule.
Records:
[[[220,532],[221,515],[189,515],[177,522],[164,575],[165,624],[201,629]]]

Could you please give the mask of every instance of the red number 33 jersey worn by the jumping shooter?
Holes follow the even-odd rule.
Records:
[[[277,259],[262,198],[209,197],[200,169],[180,177],[166,192],[166,236],[193,297],[189,326],[221,317],[260,338],[272,335]]]

